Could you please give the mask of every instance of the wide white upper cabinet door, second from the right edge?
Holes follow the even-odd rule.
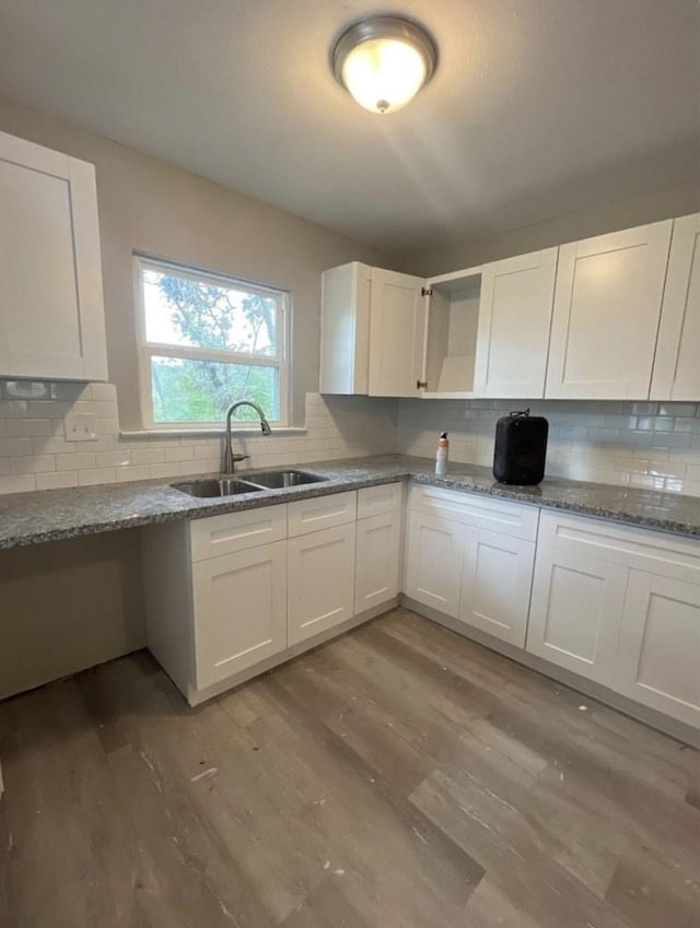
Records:
[[[546,397],[649,396],[672,224],[559,248]]]

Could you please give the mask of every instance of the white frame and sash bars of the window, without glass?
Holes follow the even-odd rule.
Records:
[[[187,348],[160,342],[150,342],[145,337],[145,304],[143,299],[143,271],[154,270],[171,272],[182,278],[189,278],[198,282],[211,283],[214,286],[234,286],[256,293],[260,296],[273,297],[279,307],[278,344],[276,355],[249,354],[234,351],[220,351],[218,349]],[[212,427],[223,427],[223,421],[212,422],[155,422],[153,419],[153,391],[151,381],[151,359],[159,357],[185,357],[197,361],[218,361],[235,364],[246,364],[255,367],[276,367],[279,371],[279,418],[268,421],[272,425],[287,426],[289,424],[289,392],[290,392],[290,365],[289,365],[289,330],[290,330],[290,294],[288,291],[278,290],[266,284],[253,283],[243,278],[234,278],[231,274],[206,271],[191,265],[179,265],[163,258],[153,258],[149,255],[133,256],[133,282],[137,307],[137,340],[139,349],[139,399],[141,404],[142,425],[148,431],[161,432],[211,432]],[[231,397],[231,402],[241,397]],[[268,410],[265,410],[266,414]],[[238,426],[236,426],[238,427]],[[245,427],[245,425],[244,425]],[[250,422],[252,430],[258,430],[256,422]]]

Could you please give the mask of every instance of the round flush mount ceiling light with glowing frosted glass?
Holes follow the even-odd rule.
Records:
[[[372,113],[395,113],[435,70],[428,33],[399,16],[374,16],[350,26],[332,49],[337,81]]]

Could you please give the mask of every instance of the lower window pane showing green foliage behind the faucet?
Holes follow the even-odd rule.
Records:
[[[179,357],[151,359],[153,421],[220,422],[234,400],[254,400],[270,421],[279,420],[279,369]],[[236,420],[257,421],[244,407]]]

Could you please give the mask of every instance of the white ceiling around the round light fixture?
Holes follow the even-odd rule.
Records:
[[[376,116],[348,23],[405,13],[432,82]],[[0,92],[385,247],[700,175],[698,0],[0,0]]]

